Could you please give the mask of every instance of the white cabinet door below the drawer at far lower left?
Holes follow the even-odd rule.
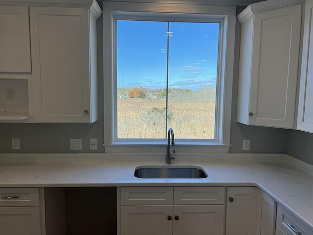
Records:
[[[39,207],[0,207],[1,235],[41,235]]]

